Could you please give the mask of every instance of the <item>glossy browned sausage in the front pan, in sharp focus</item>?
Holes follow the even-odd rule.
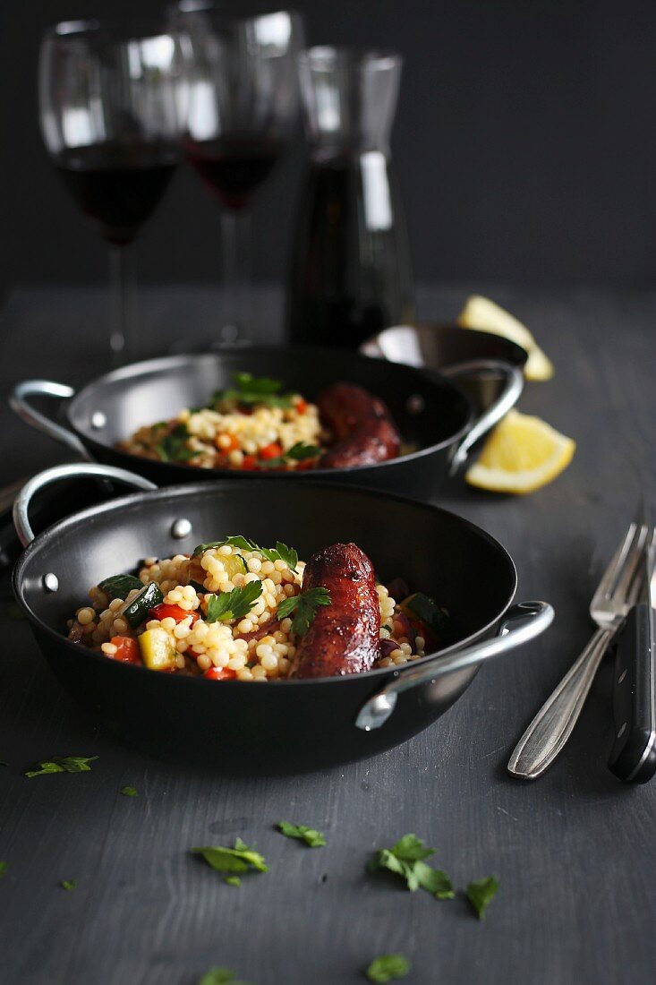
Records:
[[[299,645],[296,677],[337,677],[368,671],[380,656],[380,607],[371,561],[356,544],[333,544],[313,555],[303,591],[327,588]]]

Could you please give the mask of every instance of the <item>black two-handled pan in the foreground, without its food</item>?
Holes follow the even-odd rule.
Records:
[[[33,536],[33,494],[90,474],[150,486],[106,466],[49,469],[17,499],[24,544]],[[459,638],[436,660],[425,657],[401,672],[384,668],[349,678],[254,684],[115,663],[63,635],[66,619],[101,578],[133,568],[141,558],[189,553],[199,542],[236,533],[259,543],[283,540],[301,558],[353,540],[383,581],[403,577],[448,608]],[[82,705],[142,750],[239,773],[319,769],[375,755],[421,732],[462,694],[484,658],[551,622],[553,610],[544,603],[509,610],[515,588],[515,567],[503,548],[452,513],[399,496],[289,479],[238,488],[225,481],[197,483],[122,496],[39,534],[14,571],[14,589],[38,645]]]

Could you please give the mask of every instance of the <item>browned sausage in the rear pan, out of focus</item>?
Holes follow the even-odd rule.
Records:
[[[396,458],[401,435],[385,404],[355,383],[333,383],[317,401],[336,444],[321,459],[322,469],[348,469]]]

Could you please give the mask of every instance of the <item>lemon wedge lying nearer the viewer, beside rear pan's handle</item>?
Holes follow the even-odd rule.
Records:
[[[533,493],[565,469],[576,444],[540,418],[509,411],[465,479],[493,493]]]

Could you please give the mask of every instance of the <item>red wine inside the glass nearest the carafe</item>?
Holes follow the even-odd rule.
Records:
[[[244,209],[283,150],[273,138],[219,137],[187,142],[187,157],[226,208]]]

